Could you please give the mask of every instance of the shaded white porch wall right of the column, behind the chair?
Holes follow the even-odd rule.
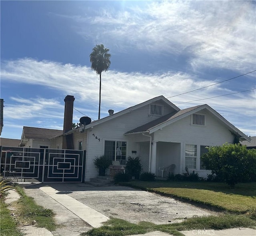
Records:
[[[180,173],[180,143],[158,142],[156,146],[156,175],[159,167],[175,164],[174,174]]]

